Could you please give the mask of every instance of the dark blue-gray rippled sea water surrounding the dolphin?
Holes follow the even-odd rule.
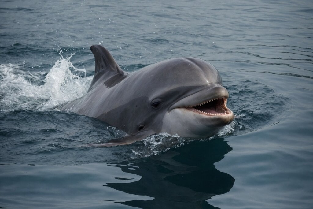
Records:
[[[312,208],[312,1],[1,1],[1,208]],[[128,146],[81,97],[93,44],[125,71],[199,57],[236,115],[216,136]]]

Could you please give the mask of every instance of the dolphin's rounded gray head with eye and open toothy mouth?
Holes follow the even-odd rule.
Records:
[[[136,109],[131,134],[149,130],[202,138],[233,121],[226,102],[228,91],[210,63],[191,57],[149,65],[133,74]],[[127,123],[130,123],[128,121]],[[152,131],[151,131],[152,130]]]

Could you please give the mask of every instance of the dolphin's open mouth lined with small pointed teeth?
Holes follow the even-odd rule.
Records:
[[[226,107],[226,98],[216,98],[199,105],[186,107],[188,110],[207,116],[227,115],[231,110]]]

